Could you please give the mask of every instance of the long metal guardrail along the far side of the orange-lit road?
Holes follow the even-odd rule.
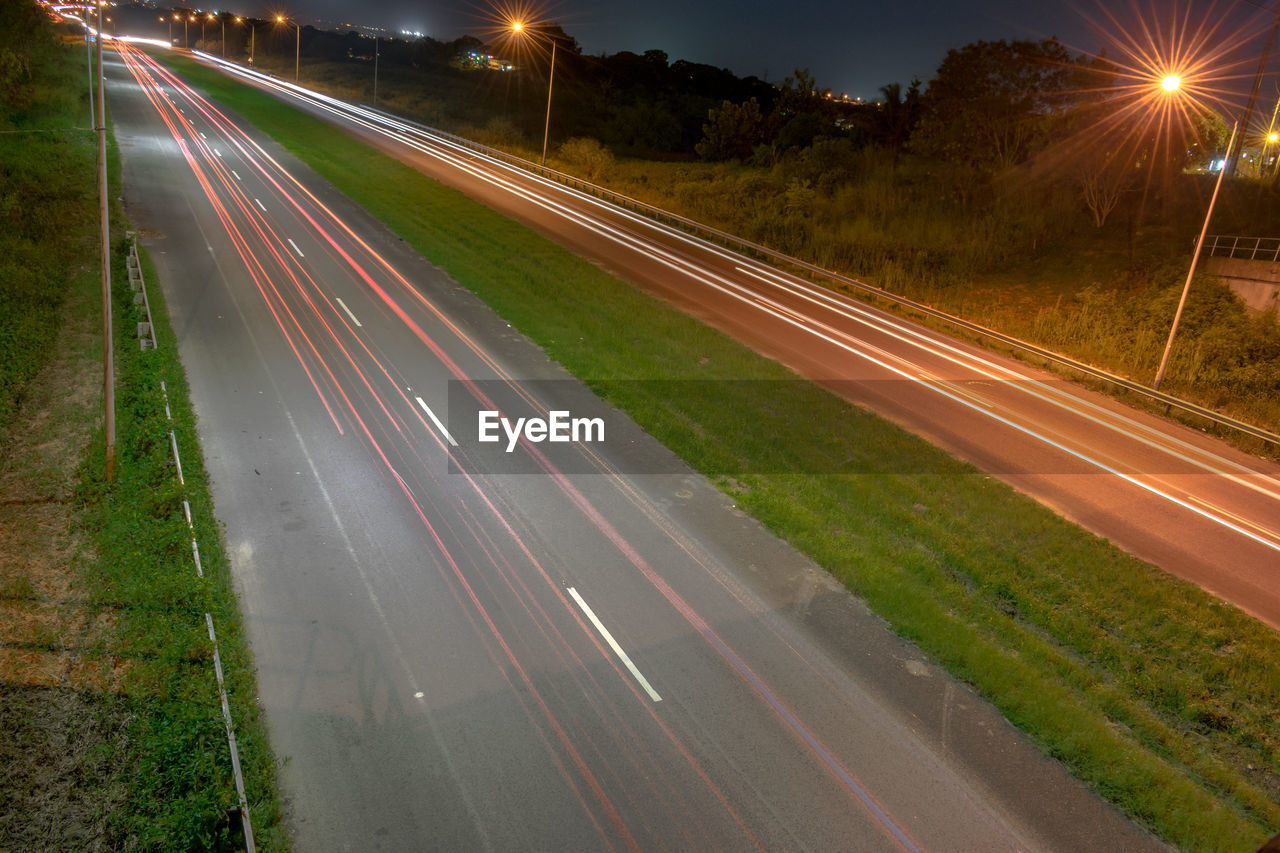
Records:
[[[1147,397],[1148,400],[1156,403],[1161,403],[1169,409],[1178,409],[1190,415],[1196,415],[1211,423],[1219,424],[1220,426],[1228,426],[1247,435],[1252,435],[1253,438],[1260,438],[1272,444],[1280,444],[1280,434],[1262,429],[1261,426],[1254,426],[1253,424],[1248,424],[1243,420],[1236,420],[1235,418],[1230,418],[1221,412],[1216,412],[1211,409],[1206,409],[1204,406],[1199,406],[1188,400],[1181,400],[1180,397],[1166,394],[1162,391],[1156,391],[1155,388],[1144,386],[1139,382],[1134,382],[1133,379],[1126,379],[1125,377],[1120,377],[1107,370],[1102,370],[1101,368],[1094,368],[1093,365],[1084,364],[1083,361],[1076,361],[1075,359],[1071,359],[1069,356],[1053,352],[1052,350],[1046,350],[1044,347],[1037,346],[1028,341],[1023,341],[1020,338],[1015,338],[1002,332],[989,329],[984,325],[979,325],[978,323],[970,323],[969,320],[955,316],[952,314],[947,314],[946,311],[940,311],[938,309],[924,305],[923,302],[916,302],[914,300],[906,298],[905,296],[897,296],[896,293],[890,293],[883,288],[867,284],[865,282],[859,282],[858,279],[842,275],[840,273],[835,273],[829,269],[823,269],[817,264],[810,264],[809,261],[800,260],[799,257],[791,257],[790,255],[783,255],[782,252],[774,251],[767,246],[754,243],[749,240],[742,240],[741,237],[736,237],[733,234],[730,234],[728,232],[723,232],[717,228],[710,228],[709,225],[704,225],[699,222],[689,219],[687,216],[681,216],[680,214],[671,213],[669,210],[663,210],[662,207],[657,207],[644,201],[637,201],[636,199],[631,199],[630,196],[613,192],[612,190],[607,190],[588,181],[582,181],[581,178],[575,178],[571,174],[557,172],[556,169],[548,169],[547,167],[538,165],[536,163],[531,163],[522,158],[517,158],[513,154],[507,154],[506,151],[499,151],[498,149],[492,149],[486,145],[480,145],[479,142],[474,142],[461,136],[454,136],[453,133],[447,133],[444,131],[439,131],[430,126],[420,124],[419,122],[406,119],[403,117],[396,115],[394,113],[380,110],[375,106],[361,105],[361,108],[371,113],[378,113],[379,115],[385,115],[387,118],[393,119],[396,122],[401,122],[403,124],[419,128],[433,136],[448,140],[462,147],[471,149],[477,154],[483,154],[488,158],[499,160],[517,169],[530,172],[548,181],[554,181],[572,190],[586,193],[594,199],[608,201],[626,210],[632,210],[635,213],[649,216],[655,222],[677,227],[687,233],[691,233],[696,237],[701,237],[703,240],[707,240],[709,242],[718,243],[721,246],[732,248],[745,255],[768,260],[769,263],[780,265],[782,268],[791,268],[792,270],[795,269],[804,270],[805,273],[817,275],[818,278],[827,279],[831,282],[837,282],[855,291],[874,296],[876,298],[884,300],[886,302],[891,302],[900,307],[909,309],[911,311],[923,314],[936,320],[941,320],[943,323],[947,323],[948,325],[964,329],[965,332],[977,334],[982,338],[989,341],[997,341],[1020,352],[1030,353],[1039,359],[1044,359],[1051,364],[1056,364],[1060,368],[1074,370],[1082,375],[1089,377],[1091,379],[1106,382],[1117,388],[1123,388],[1142,397]],[[1230,240],[1230,238],[1224,238],[1224,240]],[[1256,240],[1272,240],[1272,238],[1260,237]],[[1280,254],[1280,238],[1277,238],[1276,252]]]

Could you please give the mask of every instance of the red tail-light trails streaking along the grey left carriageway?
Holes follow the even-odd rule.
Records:
[[[485,648],[494,660],[498,670],[503,672],[503,678],[507,679],[508,684],[513,688],[513,693],[517,695],[521,694],[520,690],[515,690],[516,685],[509,680],[508,672],[515,672],[527,695],[531,697],[539,715],[538,719],[541,719],[545,722],[549,727],[549,733],[544,734],[543,727],[536,724],[535,729],[540,733],[540,736],[547,738],[549,734],[550,739],[559,744],[563,753],[553,749],[550,742],[547,742],[548,751],[554,757],[567,784],[577,793],[584,804],[584,809],[588,815],[590,815],[593,822],[595,822],[602,839],[604,839],[607,844],[611,844],[611,838],[605,833],[603,825],[598,822],[596,811],[588,807],[586,795],[579,786],[579,780],[581,780],[581,784],[590,792],[591,798],[600,808],[600,817],[613,827],[622,845],[628,849],[635,849],[637,847],[636,839],[631,834],[626,821],[622,818],[617,806],[612,802],[612,798],[604,785],[591,771],[586,758],[573,743],[573,739],[570,736],[566,726],[558,719],[556,710],[550,707],[547,697],[535,685],[532,678],[521,663],[513,646],[498,628],[489,613],[488,607],[481,601],[481,596],[467,579],[467,571],[463,567],[462,561],[454,556],[453,549],[445,540],[445,535],[442,533],[440,528],[442,524],[444,525],[444,530],[451,537],[458,539],[463,538],[460,532],[451,528],[447,520],[451,515],[460,517],[463,530],[470,534],[470,538],[475,540],[477,546],[476,553],[484,555],[490,561],[490,565],[494,566],[498,575],[503,578],[507,588],[518,601],[522,602],[522,606],[529,613],[531,621],[539,626],[539,630],[550,642],[556,653],[561,656],[566,663],[572,663],[575,671],[589,674],[588,665],[572,651],[571,644],[556,626],[552,616],[540,605],[538,605],[534,590],[524,580],[524,573],[508,560],[499,556],[500,548],[498,547],[498,543],[488,533],[484,533],[484,524],[480,519],[465,507],[461,510],[453,506],[440,507],[433,496],[442,493],[443,489],[415,489],[401,476],[397,465],[392,459],[393,456],[399,456],[401,453],[408,453],[410,457],[420,462],[419,465],[411,466],[412,478],[421,476],[425,473],[426,476],[434,480],[438,475],[425,464],[425,460],[417,450],[416,442],[408,441],[408,433],[406,429],[408,424],[401,415],[397,414],[401,409],[390,406],[385,402],[383,393],[376,389],[374,380],[369,377],[367,371],[360,366],[360,359],[366,359],[376,366],[376,371],[387,379],[388,384],[396,388],[394,393],[402,400],[402,402],[406,403],[407,410],[413,412],[413,418],[416,418],[420,428],[431,437],[436,447],[447,453],[448,447],[444,444],[444,439],[428,424],[425,416],[419,411],[419,409],[412,405],[410,394],[406,392],[406,383],[398,382],[397,378],[392,375],[393,370],[384,364],[384,360],[379,357],[372,346],[361,336],[355,334],[352,327],[346,319],[343,319],[340,310],[324,292],[320,283],[314,280],[300,260],[284,248],[287,240],[283,238],[270,225],[265,216],[253,207],[250,197],[241,188],[239,183],[230,175],[229,167],[221,163],[220,158],[212,151],[211,146],[201,138],[198,131],[196,131],[196,128],[177,109],[177,106],[169,100],[168,95],[163,93],[164,87],[168,86],[179,92],[186,102],[193,105],[211,127],[224,133],[225,138],[234,147],[236,154],[246,163],[246,165],[251,165],[256,169],[257,174],[260,174],[261,178],[279,195],[279,199],[294,211],[300,222],[305,223],[310,228],[308,233],[319,238],[321,245],[332,252],[334,259],[340,261],[340,265],[352,275],[352,280],[362,284],[366,292],[370,292],[376,297],[376,305],[384,306],[392,313],[393,316],[401,320],[404,327],[410,329],[410,332],[431,352],[431,355],[438,359],[449,375],[465,383],[471,393],[475,394],[483,405],[493,407],[492,401],[489,401],[488,397],[480,392],[461,366],[444,351],[442,345],[436,342],[422,328],[422,325],[410,315],[408,310],[402,306],[383,284],[379,283],[378,277],[366,266],[366,264],[378,268],[380,270],[379,274],[389,277],[390,280],[398,287],[401,295],[408,297],[410,301],[416,304],[419,307],[425,309],[452,334],[457,336],[458,341],[461,341],[470,352],[475,353],[483,364],[490,368],[495,375],[503,378],[526,398],[529,398],[527,392],[525,392],[520,384],[484,351],[483,347],[471,339],[452,320],[449,320],[444,313],[421,291],[415,288],[385,259],[383,259],[364,240],[355,234],[355,232],[339,216],[329,210],[329,207],[326,207],[310,191],[302,187],[302,184],[292,174],[289,174],[288,170],[270,158],[270,155],[253,142],[247,133],[232,123],[215,106],[205,101],[198,93],[191,91],[177,77],[168,73],[168,70],[145,54],[131,47],[123,47],[122,55],[125,56],[125,61],[129,64],[129,69],[134,74],[134,78],[143,87],[143,90],[147,91],[147,96],[151,99],[151,102],[156,106],[157,111],[160,111],[169,132],[179,145],[184,159],[195,172],[201,188],[209,197],[219,220],[225,227],[228,237],[236,246],[237,255],[243,261],[260,295],[268,304],[273,318],[275,319],[282,333],[285,336],[285,339],[289,342],[291,350],[298,362],[303,366],[303,370],[307,373],[307,377],[324,402],[329,416],[333,419],[339,432],[342,432],[338,414],[334,411],[333,406],[330,406],[328,400],[329,394],[325,393],[325,388],[328,388],[337,400],[340,400],[343,403],[343,418],[349,419],[357,426],[357,432],[362,435],[371,452],[383,465],[389,478],[394,479],[398,488],[412,507],[412,511],[424,525],[435,552],[440,556],[440,560],[444,564],[443,566],[439,566],[438,564],[438,566],[440,567],[442,574],[444,574],[445,580],[449,581],[449,588],[453,590],[454,598],[457,598],[460,605],[463,605],[462,611],[467,613],[468,619],[472,620],[472,624],[477,629],[477,635],[481,640],[484,640]],[[187,145],[187,140],[192,141],[195,150],[201,155],[200,158],[197,158],[192,151],[192,147]],[[212,173],[212,177],[210,177],[209,172]],[[234,211],[228,209],[220,200],[219,188],[233,200]],[[236,214],[250,223],[248,229],[257,238],[257,245],[266,247],[268,257],[265,260],[253,252],[252,245],[246,238],[244,232],[234,222]],[[321,219],[324,222],[321,222]],[[351,246],[344,246],[340,241],[349,241]],[[278,268],[280,272],[279,278],[282,278],[282,284],[287,284],[291,288],[288,292],[282,289],[282,284],[276,283],[275,278],[269,272],[269,266]],[[297,301],[296,306],[294,301]],[[303,309],[306,310],[305,314]],[[337,319],[337,323],[333,321],[334,318]],[[308,333],[308,329],[311,329],[312,333],[323,334],[324,342],[321,343],[320,341],[314,339],[312,334]],[[355,351],[347,338],[355,341]],[[300,345],[298,339],[303,343]],[[340,369],[332,366],[329,360],[325,359],[323,350],[328,347],[333,347],[334,351],[340,355]],[[314,365],[314,368],[307,366],[308,361]],[[367,397],[375,410],[381,412],[383,426],[375,428],[374,424],[367,423],[358,414],[357,406],[351,397],[351,392],[348,392],[344,383],[339,379],[340,374],[351,374],[357,379],[361,397]],[[316,379],[317,375],[324,377],[325,382],[319,382]],[[388,428],[390,429],[389,433],[385,432]],[[402,439],[397,443],[399,450],[392,451],[390,448],[384,447],[379,439],[379,433],[388,438],[399,437]],[[861,785],[861,783],[859,783],[854,775],[835,757],[831,749],[820,742],[813,730],[800,720],[799,715],[796,715],[795,711],[792,711],[781,699],[781,697],[778,697],[764,683],[764,680],[714,631],[714,629],[660,578],[653,566],[612,524],[609,524],[603,514],[600,514],[599,510],[596,510],[596,507],[594,507],[590,501],[573,487],[568,478],[559,473],[552,462],[538,451],[536,447],[529,446],[527,443],[524,443],[524,447],[549,475],[550,480],[556,483],[561,493],[563,493],[582,514],[582,516],[589,519],[602,535],[611,542],[636,570],[639,570],[639,573],[658,590],[663,598],[671,603],[672,607],[675,607],[675,610],[685,620],[689,621],[690,625],[695,628],[696,633],[701,635],[704,640],[719,654],[719,657],[730,666],[731,671],[736,672],[742,681],[764,701],[767,707],[777,715],[785,727],[790,730],[799,743],[810,751],[827,767],[832,776],[837,779],[838,783],[882,826],[887,835],[892,838],[902,849],[918,849],[906,831],[887,813],[870,792],[867,790],[865,786]],[[480,498],[483,506],[489,514],[489,517],[500,525],[504,535],[509,537],[511,542],[515,543],[522,557],[529,561],[530,567],[541,579],[543,584],[545,584],[556,599],[563,605],[566,612],[570,612],[573,616],[573,620],[582,629],[584,634],[590,639],[591,644],[599,651],[603,658],[609,662],[609,666],[614,669],[622,683],[627,685],[632,694],[641,698],[636,684],[623,674],[613,656],[605,652],[599,638],[588,629],[582,617],[579,616],[577,610],[566,599],[562,584],[553,578],[553,574],[547,570],[541,560],[539,560],[532,552],[530,544],[526,543],[524,537],[521,537],[521,534],[511,525],[507,517],[508,514],[503,512],[494,503],[495,498],[490,496],[488,491],[472,478],[471,474],[463,471],[463,476],[466,478],[468,485],[474,489],[475,494]],[[424,496],[425,502],[435,510],[434,515],[440,519],[439,521],[433,521],[433,514],[428,512],[422,500],[419,497],[420,494]],[[452,510],[452,512],[449,510]],[[447,573],[444,571],[445,567],[448,569]],[[488,638],[488,640],[485,638]],[[509,670],[507,669],[508,666],[511,667]],[[594,676],[588,676],[594,681]],[[598,693],[603,695],[603,690],[599,690]],[[524,704],[522,698],[521,703]],[[698,777],[701,779],[708,786],[710,794],[723,806],[723,808],[726,808],[733,822],[744,833],[745,840],[748,840],[750,845],[759,848],[759,841],[748,829],[742,816],[733,809],[724,793],[714,785],[710,776],[699,765],[691,751],[681,743],[678,735],[657,715],[650,703],[641,702],[641,706],[646,708],[649,717],[660,727],[669,743],[675,745]],[[531,715],[532,708],[526,707],[526,713]],[[616,721],[623,720],[622,715],[617,711],[612,711],[612,716]],[[530,716],[530,720],[534,722],[535,719]],[[630,726],[620,725],[618,727],[622,731],[630,731]],[[596,752],[603,754],[599,749],[596,749]],[[632,756],[644,753],[644,751],[635,749],[627,749],[626,752]],[[567,760],[567,765],[562,762],[561,754],[563,754]],[[570,772],[570,766],[575,772]],[[652,768],[646,776],[650,774]]]

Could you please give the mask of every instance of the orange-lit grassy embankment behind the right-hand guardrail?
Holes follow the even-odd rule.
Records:
[[[283,56],[262,63],[292,74]],[[517,129],[529,126],[517,113],[526,100],[499,95],[497,78],[483,73],[430,74],[393,69],[380,81],[379,104],[536,160],[540,137]],[[312,60],[303,77],[337,97],[367,102],[371,95],[369,69],[358,63]],[[988,181],[909,151],[847,141],[819,140],[772,167],[614,161],[598,145],[577,142],[553,138],[548,165],[1146,383],[1164,351],[1212,188],[1211,175],[1155,178],[1146,187],[1137,181],[1098,227],[1079,192],[1079,164],[1053,149]],[[1065,149],[1074,143],[1062,140]],[[1277,192],[1276,184],[1228,182],[1213,232],[1280,233]],[[1220,280],[1198,275],[1164,389],[1275,430],[1280,324],[1274,315],[1251,315]],[[1132,402],[1147,405],[1137,396]],[[1252,451],[1280,452],[1222,434]]]

